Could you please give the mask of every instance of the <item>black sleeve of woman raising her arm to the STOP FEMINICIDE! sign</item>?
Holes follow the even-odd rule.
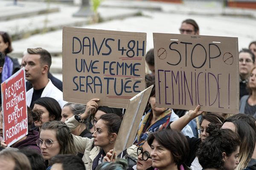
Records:
[[[199,144],[201,144],[200,138],[190,138],[189,136],[186,136],[186,139],[189,143],[189,153],[187,155],[187,159],[185,161],[185,164],[190,167],[192,162],[195,159],[195,153],[198,150]]]

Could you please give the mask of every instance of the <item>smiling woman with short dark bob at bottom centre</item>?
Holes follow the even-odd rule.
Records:
[[[165,129],[148,136],[151,147],[152,167],[158,170],[187,170],[186,160],[189,145],[186,137],[177,130]]]

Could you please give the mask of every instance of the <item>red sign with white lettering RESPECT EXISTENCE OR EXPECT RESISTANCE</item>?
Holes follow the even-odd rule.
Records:
[[[1,84],[3,140],[8,146],[28,134],[25,69]]]

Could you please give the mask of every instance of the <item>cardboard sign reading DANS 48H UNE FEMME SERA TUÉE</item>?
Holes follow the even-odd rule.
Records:
[[[63,98],[126,108],[145,89],[146,33],[63,28]]]

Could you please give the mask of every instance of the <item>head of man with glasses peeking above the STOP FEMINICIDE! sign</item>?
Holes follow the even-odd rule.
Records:
[[[181,23],[180,34],[199,35],[199,27],[195,20],[186,19]]]

